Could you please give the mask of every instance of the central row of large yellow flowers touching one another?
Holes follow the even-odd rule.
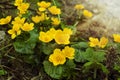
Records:
[[[51,28],[47,32],[40,32],[39,40],[43,42],[50,42],[53,39],[57,44],[69,44],[70,41],[70,35],[72,34],[72,30],[68,28],[64,28],[64,30],[55,30],[54,28]]]

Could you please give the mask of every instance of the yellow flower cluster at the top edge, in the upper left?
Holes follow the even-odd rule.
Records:
[[[14,3],[15,6],[17,6],[17,9],[19,10],[19,14],[25,14],[27,9],[29,8],[30,4],[23,2],[23,0],[15,0]]]

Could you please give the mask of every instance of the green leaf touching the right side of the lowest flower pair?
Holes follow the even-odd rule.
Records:
[[[75,61],[76,62],[85,62],[86,58],[85,58],[85,52],[79,50],[79,49],[75,49]]]

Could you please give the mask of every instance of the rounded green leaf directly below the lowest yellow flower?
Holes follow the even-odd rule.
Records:
[[[64,72],[63,66],[54,66],[49,61],[43,62],[45,72],[52,78],[60,79]]]

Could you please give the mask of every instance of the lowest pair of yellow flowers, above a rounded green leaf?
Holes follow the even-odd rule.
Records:
[[[66,58],[74,59],[75,49],[69,46],[65,46],[64,49],[55,49],[53,54],[49,56],[49,61],[53,63],[54,66],[59,64],[64,64],[66,62]]]

